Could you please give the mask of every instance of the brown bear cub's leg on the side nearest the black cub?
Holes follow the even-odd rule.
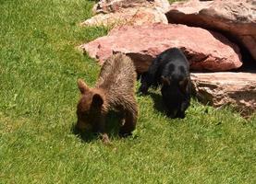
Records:
[[[125,110],[125,124],[120,128],[120,136],[126,137],[131,135],[131,132],[135,130],[138,118],[138,109],[136,103],[133,109]]]

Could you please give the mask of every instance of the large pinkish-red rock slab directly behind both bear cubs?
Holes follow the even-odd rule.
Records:
[[[191,69],[226,71],[241,66],[238,47],[222,35],[184,25],[153,24],[112,29],[107,36],[81,45],[100,63],[113,52],[128,54],[139,73],[145,72],[153,58],[168,48],[180,48]]]

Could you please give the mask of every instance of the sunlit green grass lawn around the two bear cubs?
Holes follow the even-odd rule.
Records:
[[[72,132],[79,90],[100,67],[76,47],[107,33],[80,28],[93,1],[0,0],[0,183],[255,183],[256,116],[192,101],[170,120],[156,95],[137,97],[127,139]],[[115,116],[110,117],[112,121]]]

